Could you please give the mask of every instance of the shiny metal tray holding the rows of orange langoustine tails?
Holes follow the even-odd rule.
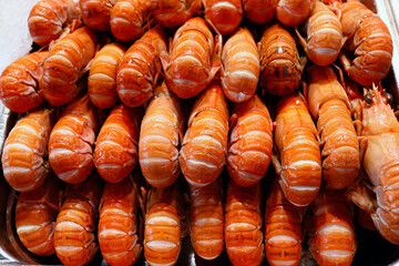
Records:
[[[399,1],[398,0],[361,0],[368,8],[377,12],[388,25],[393,39],[392,66],[382,81],[383,88],[393,95],[395,103],[399,104]],[[10,112],[0,102],[0,147],[18,120],[18,114]],[[0,166],[1,167],[1,166]],[[6,182],[0,171],[0,265],[59,265],[55,255],[51,257],[38,257],[29,253],[20,243],[13,223],[14,205],[17,198],[14,191]],[[377,232],[370,232],[356,227],[358,249],[352,265],[361,266],[399,266],[399,246],[392,245],[383,239]],[[307,252],[304,242],[304,256],[300,266],[317,265]],[[98,252],[90,265],[108,265]],[[147,265],[143,253],[135,265]],[[219,266],[231,265],[226,252],[214,260],[204,260],[196,256],[191,245],[190,237],[182,242],[182,252],[176,265],[184,266]],[[268,265],[266,258],[262,265]]]

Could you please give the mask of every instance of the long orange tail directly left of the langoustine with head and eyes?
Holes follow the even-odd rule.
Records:
[[[342,190],[358,176],[359,142],[350,103],[330,66],[308,68],[309,111],[320,134],[323,178],[327,188]]]

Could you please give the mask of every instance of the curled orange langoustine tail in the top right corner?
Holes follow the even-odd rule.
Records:
[[[340,57],[349,78],[365,86],[381,81],[392,63],[392,38],[383,21],[358,1],[347,1],[339,7],[345,48],[355,52],[352,62]]]

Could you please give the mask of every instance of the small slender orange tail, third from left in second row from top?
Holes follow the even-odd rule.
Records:
[[[98,108],[109,109],[116,104],[116,69],[125,52],[120,42],[104,45],[92,61],[88,79],[90,101]]]

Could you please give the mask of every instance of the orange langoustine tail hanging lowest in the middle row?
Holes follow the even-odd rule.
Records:
[[[318,132],[303,99],[293,93],[277,102],[274,132],[280,162],[273,164],[287,200],[296,206],[307,206],[321,183],[321,157]]]

